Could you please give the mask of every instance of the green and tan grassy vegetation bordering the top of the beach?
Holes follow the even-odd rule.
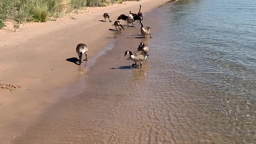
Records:
[[[11,20],[16,30],[26,22],[56,20],[65,12],[78,11],[86,6],[106,6],[124,1],[140,0],[0,0],[0,28],[5,26],[6,20]]]

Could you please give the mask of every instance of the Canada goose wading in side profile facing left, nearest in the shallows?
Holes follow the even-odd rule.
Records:
[[[142,67],[142,62],[147,58],[147,55],[146,55],[147,53],[142,51],[135,51],[132,53],[131,51],[126,50],[124,53],[124,56],[126,56],[127,54],[130,54],[129,56],[130,60],[135,62],[135,64],[132,64],[131,68],[133,68],[134,65],[137,65],[137,63],[139,62],[140,62],[140,67]]]

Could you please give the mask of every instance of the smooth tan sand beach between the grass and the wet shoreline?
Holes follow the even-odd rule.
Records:
[[[88,45],[88,60],[93,60],[114,36],[115,32],[109,29],[115,29],[111,25],[119,14],[137,12],[140,4],[142,12],[148,12],[168,1],[142,0],[88,8],[73,14],[76,20],[67,16],[56,22],[27,24],[26,30],[18,32],[1,30],[0,83],[17,88],[0,90],[0,143],[19,136],[62,94],[74,94],[86,87],[85,84],[67,87],[85,74],[84,64],[78,66],[68,61],[78,57],[75,52],[78,43]],[[110,14],[111,23],[100,21],[104,20],[104,12]],[[62,91],[52,94],[57,88]]]

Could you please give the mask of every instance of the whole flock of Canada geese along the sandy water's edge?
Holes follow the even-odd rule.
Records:
[[[140,5],[140,9],[141,9],[141,5]],[[109,14],[108,13],[104,13],[103,17],[105,19],[106,22],[106,18],[108,18],[109,22],[112,22],[109,18]],[[142,20],[143,20],[143,14],[142,12],[139,10],[138,14],[133,14],[130,11],[130,14],[128,16],[121,14],[120,16],[118,16],[117,20],[114,22],[114,24],[112,26],[116,27],[116,31],[117,27],[120,29],[120,31],[122,31],[122,29],[124,30],[124,27],[122,26],[121,22],[118,20],[125,20],[127,21],[127,26],[129,26],[129,24],[132,24],[132,27],[135,20],[139,20],[140,21],[140,32],[142,34],[142,36],[144,36],[144,38],[146,38],[146,36],[149,34],[150,38],[150,27],[148,26],[143,26]],[[121,29],[122,28],[122,29]],[[76,47],[76,52],[79,56],[79,65],[81,65],[82,61],[87,61],[87,52],[88,52],[88,47],[85,44],[78,44]],[[82,60],[82,55],[85,54],[86,59]],[[124,56],[126,56],[127,54],[130,54],[129,58],[130,60],[134,61],[135,64],[132,64],[131,68],[134,68],[134,66],[138,64],[140,64],[140,67],[142,67],[142,62],[144,60],[146,60],[147,56],[148,56],[148,46],[146,44],[144,44],[143,42],[140,42],[140,45],[138,46],[137,51],[135,52],[131,52],[129,50],[126,50],[124,53]]]

